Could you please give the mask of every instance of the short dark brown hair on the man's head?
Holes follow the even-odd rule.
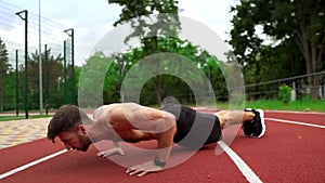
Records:
[[[91,119],[78,106],[63,105],[48,126],[48,139],[54,143],[54,139],[58,133],[73,130],[77,125],[89,123]]]

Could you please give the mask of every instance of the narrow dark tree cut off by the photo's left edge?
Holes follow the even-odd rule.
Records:
[[[9,71],[8,50],[5,43],[0,38],[0,112],[3,110],[3,81]]]

